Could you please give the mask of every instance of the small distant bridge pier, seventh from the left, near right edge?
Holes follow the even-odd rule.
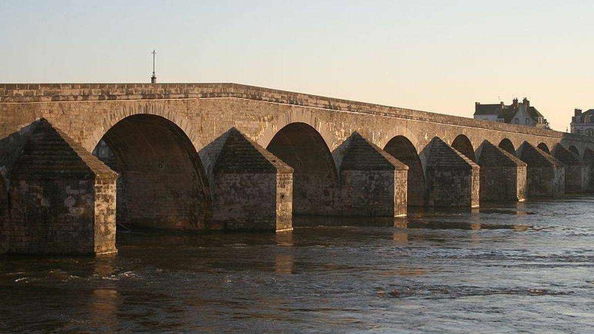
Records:
[[[551,152],[565,166],[565,193],[584,193],[590,184],[590,165],[561,144]]]

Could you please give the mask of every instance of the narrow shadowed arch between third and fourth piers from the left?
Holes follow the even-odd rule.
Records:
[[[415,146],[405,136],[391,138],[384,151],[409,166],[407,201],[409,206],[425,204],[425,173]]]

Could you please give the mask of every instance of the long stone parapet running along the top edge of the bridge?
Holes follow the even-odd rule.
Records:
[[[374,103],[357,102],[313,94],[287,92],[284,90],[247,86],[235,83],[55,83],[55,84],[0,84],[1,103],[31,102],[82,102],[106,100],[169,100],[236,98],[260,100],[323,108],[342,112],[390,116],[416,121],[441,124],[456,124],[470,128],[485,128],[509,133],[530,134],[540,137],[565,138],[587,141],[594,144],[594,138],[577,134],[522,125],[505,124],[460,116],[437,114]]]

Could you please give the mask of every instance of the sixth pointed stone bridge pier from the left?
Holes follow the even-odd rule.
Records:
[[[563,163],[525,141],[516,156],[526,162],[528,197],[557,197],[565,193]]]

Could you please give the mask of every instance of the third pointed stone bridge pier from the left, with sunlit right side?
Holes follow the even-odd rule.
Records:
[[[406,215],[408,166],[356,132],[333,157],[339,170],[341,215]]]

